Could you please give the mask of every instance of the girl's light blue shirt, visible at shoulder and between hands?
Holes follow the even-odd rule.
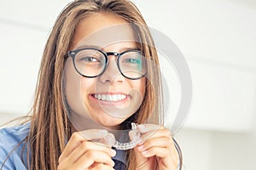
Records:
[[[27,158],[26,158],[26,142],[21,142],[26,138],[30,130],[30,123],[15,127],[6,127],[0,129],[0,169],[3,166],[3,170],[26,170],[27,169]],[[21,144],[17,147],[17,145]],[[15,148],[17,147],[17,148]],[[22,148],[23,150],[22,154]],[[15,149],[15,150],[14,150]],[[113,157],[113,161],[116,162],[116,169],[125,169],[125,165],[120,165],[119,162],[125,162],[125,151],[116,150],[117,154]],[[9,156],[9,153],[10,156]],[[9,157],[8,157],[9,156]],[[23,156],[23,161],[22,161]],[[8,157],[8,159],[6,159]],[[117,160],[117,161],[116,161]]]

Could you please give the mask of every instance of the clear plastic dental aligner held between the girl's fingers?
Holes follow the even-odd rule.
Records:
[[[113,143],[113,147],[115,147],[117,150],[130,150],[134,148],[138,143],[140,143],[142,139],[141,133],[139,133],[139,131],[137,130],[137,124],[131,122],[131,129],[135,132],[132,141],[128,143],[120,143],[119,141],[115,140],[115,142]]]

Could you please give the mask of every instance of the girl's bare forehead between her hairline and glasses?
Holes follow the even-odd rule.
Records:
[[[71,50],[84,46],[106,47],[109,45],[135,46],[137,40],[131,24],[109,13],[90,14],[77,26]]]

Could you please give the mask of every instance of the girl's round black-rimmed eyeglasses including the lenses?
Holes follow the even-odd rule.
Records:
[[[120,73],[131,80],[144,77],[147,72],[146,59],[138,49],[130,49],[122,53],[103,52],[97,48],[79,48],[68,52],[73,59],[73,66],[83,77],[98,77],[108,67],[108,56],[117,57]]]

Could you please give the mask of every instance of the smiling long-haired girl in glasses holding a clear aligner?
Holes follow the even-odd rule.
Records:
[[[70,3],[46,43],[29,122],[0,131],[1,169],[181,169],[170,130],[155,128],[160,87],[154,42],[133,3]],[[119,150],[106,137],[127,122],[137,123],[131,141],[134,130],[141,140]]]

